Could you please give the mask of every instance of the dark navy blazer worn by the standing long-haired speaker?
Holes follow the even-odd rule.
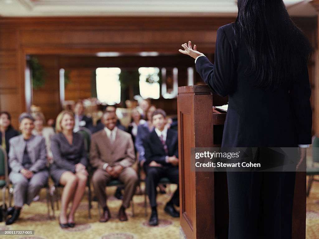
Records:
[[[232,24],[217,31],[214,65],[199,57],[196,71],[212,92],[228,95],[223,147],[297,147],[311,144],[312,111],[307,62],[290,85],[275,91],[253,87],[245,74],[246,46],[235,46]]]

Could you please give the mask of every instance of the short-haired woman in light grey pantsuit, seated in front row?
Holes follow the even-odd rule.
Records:
[[[45,139],[32,135],[34,119],[27,113],[19,116],[21,135],[10,139],[9,165],[12,169],[9,179],[14,188],[14,207],[10,207],[7,214],[11,217],[7,225],[14,223],[22,206],[30,205],[33,198],[47,184],[49,172]]]

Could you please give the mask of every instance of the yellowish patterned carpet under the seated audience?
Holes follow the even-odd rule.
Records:
[[[175,185],[170,185],[171,192],[174,192]],[[167,190],[168,192],[170,190]],[[115,188],[108,188],[108,206],[112,218],[106,223],[100,223],[97,202],[93,202],[91,209],[92,219],[88,219],[86,196],[82,200],[78,213],[76,214],[76,227],[61,229],[58,225],[57,216],[59,210],[56,210],[56,219],[48,220],[46,206],[46,192],[41,191],[41,197],[38,202],[33,203],[30,207],[25,206],[19,220],[5,226],[4,222],[0,223],[0,230],[34,230],[35,235],[2,235],[0,238],[6,239],[177,239],[179,238],[179,218],[172,218],[167,215],[163,208],[170,195],[158,195],[158,212],[159,226],[148,226],[150,208],[147,208],[148,216],[145,217],[144,196],[134,196],[135,216],[132,217],[131,208],[127,209],[129,221],[120,222],[117,219],[117,212],[121,206],[121,201],[117,200],[113,194]],[[307,229],[306,239],[319,239],[319,182],[314,182],[310,196],[307,199]]]

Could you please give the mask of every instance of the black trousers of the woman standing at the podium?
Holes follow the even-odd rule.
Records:
[[[291,239],[295,172],[227,172],[228,239]]]

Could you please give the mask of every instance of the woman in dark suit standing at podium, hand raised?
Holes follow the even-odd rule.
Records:
[[[215,62],[182,44],[212,92],[228,95],[222,147],[308,147],[306,36],[282,0],[238,0],[217,31]],[[298,165],[299,166],[299,165]],[[227,172],[229,239],[291,239],[295,172]]]

